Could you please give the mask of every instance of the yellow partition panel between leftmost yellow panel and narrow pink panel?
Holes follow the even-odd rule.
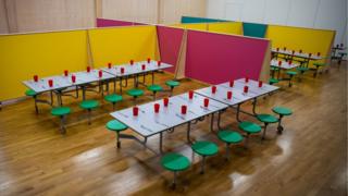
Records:
[[[158,59],[156,26],[129,26],[88,30],[94,66]]]

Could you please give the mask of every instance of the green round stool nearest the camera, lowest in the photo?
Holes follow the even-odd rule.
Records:
[[[177,172],[188,169],[190,162],[185,156],[171,152],[162,157],[161,164],[164,169],[174,173],[173,187],[175,188]]]

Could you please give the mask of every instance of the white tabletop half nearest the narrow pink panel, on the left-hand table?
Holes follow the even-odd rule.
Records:
[[[141,65],[145,64],[145,70],[141,69]],[[151,60],[150,63],[147,61],[139,61],[134,62],[133,65],[130,64],[120,64],[120,65],[113,65],[111,69],[109,68],[102,68],[104,72],[108,72],[110,74],[113,74],[115,76],[127,76],[127,75],[134,75],[139,73],[146,73],[146,72],[152,72],[157,70],[163,70],[171,68],[173,65],[161,62],[161,65],[158,65],[157,61]],[[124,73],[121,74],[121,68],[124,69]]]

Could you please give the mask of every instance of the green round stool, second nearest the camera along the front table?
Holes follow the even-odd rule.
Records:
[[[196,154],[202,156],[202,164],[201,164],[200,173],[203,174],[204,173],[206,157],[216,155],[217,154],[217,145],[212,142],[200,140],[200,142],[196,142],[191,146],[191,148]]]

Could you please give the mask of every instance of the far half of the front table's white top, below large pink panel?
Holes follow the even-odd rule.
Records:
[[[244,87],[248,86],[247,94],[244,93]],[[212,94],[211,86],[195,90],[197,94],[226,103],[228,106],[238,105],[247,100],[260,97],[271,91],[277,90],[279,87],[272,86],[263,83],[262,87],[259,87],[259,82],[249,79],[248,83],[245,78],[240,78],[234,82],[234,86],[229,87],[229,82],[216,85],[216,93]],[[227,91],[232,91],[232,99],[227,99]]]

